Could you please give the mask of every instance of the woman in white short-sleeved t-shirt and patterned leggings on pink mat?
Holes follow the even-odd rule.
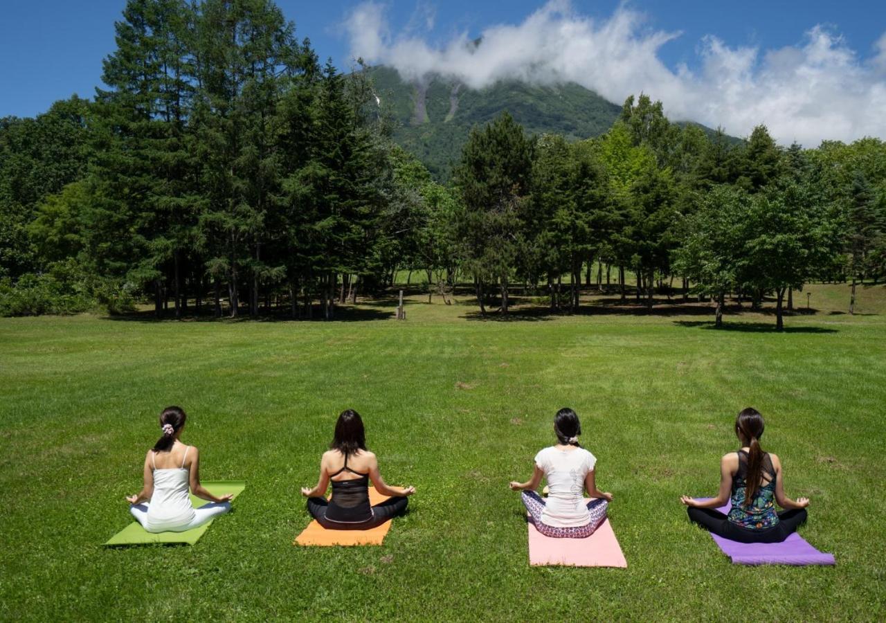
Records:
[[[579,446],[581,424],[572,409],[560,409],[554,418],[557,444],[535,455],[532,478],[511,482],[513,491],[522,491],[521,499],[536,529],[545,536],[584,538],[594,533],[606,519],[606,507],[612,494],[597,489],[594,455]],[[535,489],[541,477],[548,479],[548,500]],[[595,498],[585,502],[587,495]]]

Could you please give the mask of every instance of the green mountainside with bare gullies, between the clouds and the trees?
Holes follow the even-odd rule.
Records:
[[[372,67],[369,74],[377,97],[397,121],[394,140],[441,181],[452,173],[470,128],[492,121],[502,111],[530,134],[556,133],[570,140],[600,136],[621,113],[620,105],[574,82],[538,86],[502,81],[472,90],[442,77],[406,82],[388,66]],[[711,128],[700,127],[713,134]]]

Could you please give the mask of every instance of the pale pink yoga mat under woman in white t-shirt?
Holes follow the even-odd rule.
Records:
[[[590,502],[586,499],[585,502]],[[627,566],[625,555],[612,532],[609,518],[585,539],[555,539],[545,536],[529,525],[529,564],[532,566],[564,565],[576,567]]]

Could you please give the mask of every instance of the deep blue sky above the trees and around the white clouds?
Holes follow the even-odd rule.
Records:
[[[404,39],[412,40],[413,43],[421,41],[429,50],[434,51],[457,40],[457,36],[461,34],[474,37],[495,25],[524,24],[529,16],[545,6],[543,2],[528,0],[383,0],[375,4],[335,0],[323,3],[278,0],[277,4],[282,7],[287,18],[295,22],[299,37],[310,37],[322,58],[331,57],[338,66],[345,67],[349,65],[352,51],[364,53],[360,49],[363,43],[355,43],[357,37],[353,33],[349,35],[344,26],[360,10],[381,12],[384,16],[379,26],[384,35],[384,48],[367,56],[374,56],[372,59],[377,62],[389,62],[396,66],[398,56],[394,49]],[[558,11],[566,5],[563,0],[556,0],[555,4]],[[53,101],[69,97],[74,92],[82,97],[91,97],[95,86],[100,82],[102,58],[114,49],[113,21],[119,19],[124,5],[123,0],[32,0],[4,3],[0,14],[0,58],[4,59],[0,65],[0,116],[40,113]],[[741,3],[710,0],[672,0],[667,3],[652,0],[633,0],[629,3],[614,0],[573,0],[566,9],[570,15],[552,19],[551,23],[552,27],[556,27],[558,24],[562,26],[563,22],[586,20],[603,27],[612,22],[619,12],[624,11],[631,12],[635,18],[641,17],[633,20],[626,45],[638,38],[680,33],[666,43],[652,43],[655,48],[654,56],[661,63],[663,71],[666,69],[673,75],[680,73],[680,64],[685,64],[691,72],[703,71],[707,58],[705,51],[711,51],[709,43],[705,43],[709,41],[704,39],[706,35],[715,36],[727,51],[739,51],[748,47],[756,49],[758,57],[750,67],[753,72],[758,72],[769,51],[778,51],[786,46],[803,51],[804,46],[810,45],[806,33],[817,26],[824,27],[832,47],[851,51],[853,62],[864,66],[869,61],[873,62],[878,53],[876,43],[886,31],[886,2],[859,0],[745,0]],[[429,17],[432,19],[429,20]],[[592,34],[594,28],[589,28]],[[808,50],[804,53],[807,56],[812,54]],[[638,53],[638,58],[641,59],[642,54]],[[759,72],[759,76],[755,74],[753,79],[759,78],[760,89],[766,87],[772,90],[772,82],[767,82],[766,85],[762,83],[765,73]],[[649,91],[660,87],[660,97],[664,99],[666,107],[668,102],[665,97],[683,97],[682,91],[669,86],[674,80],[680,79],[669,77],[667,72],[662,74],[663,77],[659,76],[660,80],[655,76],[643,75],[645,77],[638,77],[636,80],[649,80],[649,88],[645,83],[640,88]],[[879,83],[879,74],[872,75],[867,75],[861,81],[862,86],[869,88],[871,83],[874,86]],[[586,86],[595,88],[611,99],[620,97],[619,89],[628,88],[620,82],[610,84],[611,81],[606,82],[602,78],[599,80],[588,78]],[[637,87],[636,80],[630,84],[631,89]],[[705,82],[704,85],[709,89],[720,88],[712,86],[711,82]],[[696,91],[699,89],[702,87],[696,85]],[[847,87],[842,86],[840,90],[847,90]],[[852,90],[852,87],[848,90]],[[657,95],[655,92],[652,94]],[[811,97],[821,96],[812,94]],[[859,97],[864,97],[864,94]],[[676,110],[675,113],[678,116],[701,116],[701,121],[709,123],[719,120],[704,117],[704,114],[722,114],[726,122],[735,116],[724,107],[703,113],[700,104],[693,106],[686,110]],[[818,112],[816,114],[818,122],[827,118]],[[736,117],[735,123],[741,125],[745,121]],[[745,129],[735,128],[734,131]]]

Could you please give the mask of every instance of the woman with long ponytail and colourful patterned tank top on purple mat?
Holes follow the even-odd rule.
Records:
[[[735,418],[735,435],[742,448],[720,460],[720,488],[717,497],[705,502],[687,495],[689,519],[714,534],[742,543],[784,541],[806,520],[809,500],[797,501],[784,495],[784,475],[778,456],[760,448],[763,416],[757,409],[744,409]],[[714,510],[729,500],[728,515]],[[775,512],[775,503],[782,509]]]

